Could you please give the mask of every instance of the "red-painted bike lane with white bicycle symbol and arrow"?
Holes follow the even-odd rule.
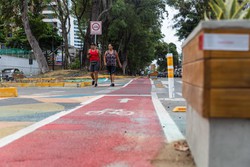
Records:
[[[152,166],[165,138],[150,92],[136,79],[0,148],[0,166]]]

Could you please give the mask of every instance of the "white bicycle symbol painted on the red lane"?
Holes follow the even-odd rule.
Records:
[[[104,115],[104,114],[108,114],[108,115],[119,115],[119,116],[130,116],[130,115],[134,115],[133,111],[126,111],[123,109],[104,109],[101,111],[89,111],[86,113],[86,115]]]

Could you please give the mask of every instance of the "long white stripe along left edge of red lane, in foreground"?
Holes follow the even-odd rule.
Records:
[[[76,107],[76,108],[74,108],[72,110],[59,112],[59,113],[57,113],[55,115],[52,115],[52,116],[50,116],[50,117],[48,117],[48,118],[46,118],[46,119],[44,119],[44,120],[42,120],[40,122],[37,122],[37,123],[35,123],[35,124],[31,125],[31,126],[28,126],[28,127],[24,128],[24,129],[21,129],[21,130],[15,132],[15,133],[13,133],[13,134],[11,134],[9,136],[6,136],[6,137],[0,139],[0,148],[14,142],[17,139],[20,139],[21,137],[23,137],[23,136],[25,136],[25,135],[27,135],[29,133],[34,132],[35,130],[37,130],[40,127],[43,127],[43,126],[45,126],[45,125],[47,125],[47,124],[49,124],[51,122],[54,122],[55,120],[65,116],[67,114],[70,114],[70,113],[76,111],[77,109],[79,109],[79,108],[81,108],[81,107],[83,107],[83,106],[85,106],[87,104],[90,104],[90,103],[92,103],[92,102],[94,102],[94,101],[96,101],[96,100],[98,100],[100,98],[102,98],[103,96],[104,95],[96,96],[96,97],[94,97],[94,98],[92,98],[92,99],[90,99],[90,100],[88,100],[86,102],[81,103],[80,106],[78,106],[78,107]]]

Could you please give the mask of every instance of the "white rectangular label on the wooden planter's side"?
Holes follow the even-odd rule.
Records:
[[[205,33],[203,50],[249,51],[249,35]]]

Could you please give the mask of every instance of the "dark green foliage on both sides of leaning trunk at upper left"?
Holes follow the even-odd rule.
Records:
[[[6,4],[3,4],[3,2]],[[0,17],[0,42],[11,48],[30,50],[31,47],[23,29],[21,18],[15,13],[19,12],[17,1],[4,0],[3,2],[0,2],[0,13],[2,13]],[[13,5],[16,5],[16,7]],[[43,15],[41,12],[46,5],[42,0],[33,0],[30,5],[33,5],[29,13],[30,27],[41,49],[51,50],[52,45],[56,48],[61,44],[62,38],[56,33],[57,30],[54,30],[52,25],[42,21]],[[7,9],[11,9],[13,13],[6,13]]]

